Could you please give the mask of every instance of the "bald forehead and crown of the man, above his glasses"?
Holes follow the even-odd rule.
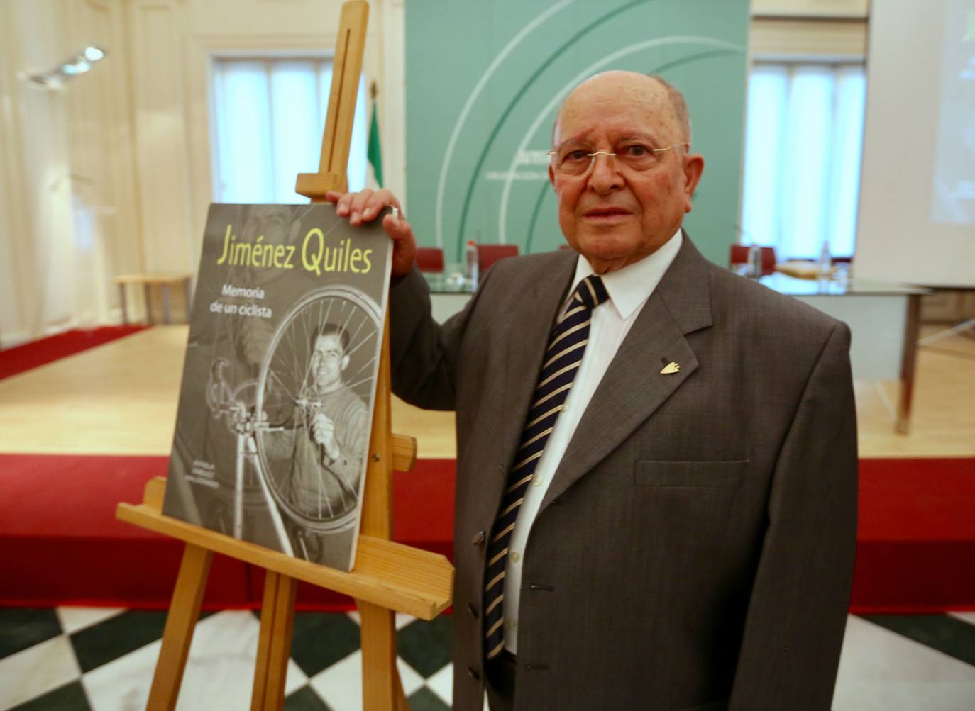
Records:
[[[577,87],[565,98],[553,142],[634,136],[663,141],[677,134],[677,118],[666,91],[647,79],[639,84],[604,82]]]

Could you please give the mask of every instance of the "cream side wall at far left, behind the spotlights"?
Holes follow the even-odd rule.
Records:
[[[0,344],[113,318],[139,266],[124,5],[0,3]],[[88,44],[111,61],[50,92],[25,76]]]

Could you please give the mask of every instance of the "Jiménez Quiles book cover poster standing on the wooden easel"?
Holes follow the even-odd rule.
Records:
[[[390,252],[328,204],[210,207],[165,514],[351,570]]]

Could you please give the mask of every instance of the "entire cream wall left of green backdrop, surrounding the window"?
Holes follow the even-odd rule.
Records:
[[[212,198],[211,58],[328,54],[340,6],[0,2],[0,347],[119,320],[114,275],[196,270]],[[403,25],[403,0],[370,3],[364,71],[378,88],[386,182],[401,195]],[[63,91],[23,80],[89,44],[108,57]]]

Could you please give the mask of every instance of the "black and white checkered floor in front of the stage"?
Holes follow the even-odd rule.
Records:
[[[145,708],[166,615],[105,608],[0,609],[0,711]],[[178,709],[250,705],[259,622],[205,615]],[[450,705],[450,617],[397,618],[400,677],[411,711]],[[362,708],[355,614],[297,614],[285,708]],[[975,709],[975,613],[849,617],[835,711]]]

